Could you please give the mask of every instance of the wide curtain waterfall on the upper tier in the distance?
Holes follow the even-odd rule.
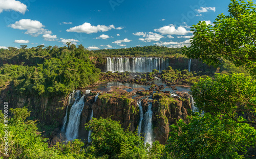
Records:
[[[164,58],[106,58],[106,71],[151,72],[169,66]]]

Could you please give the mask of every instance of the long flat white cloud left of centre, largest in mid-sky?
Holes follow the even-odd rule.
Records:
[[[111,29],[117,29],[120,30],[122,29],[121,27],[115,28],[114,25],[97,25],[94,26],[90,24],[89,22],[85,22],[82,25],[74,26],[73,28],[70,28],[67,30],[67,32],[76,32],[76,33],[86,33],[86,34],[91,34],[91,33],[98,33],[98,32],[106,32]]]

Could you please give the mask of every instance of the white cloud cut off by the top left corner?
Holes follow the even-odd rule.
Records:
[[[3,11],[14,10],[16,12],[25,14],[27,6],[15,0],[0,0],[0,13]]]

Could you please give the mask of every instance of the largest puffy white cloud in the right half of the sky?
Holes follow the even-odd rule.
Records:
[[[176,29],[175,25],[173,24],[163,26],[162,28],[155,29],[154,31],[168,35],[185,35],[187,33],[190,33],[190,31],[187,31],[183,26],[179,26],[178,29]]]

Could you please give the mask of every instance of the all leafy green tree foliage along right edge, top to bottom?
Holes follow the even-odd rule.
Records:
[[[230,15],[214,26],[193,25],[188,58],[218,66],[224,58],[256,75],[256,12],[253,2],[231,0]],[[191,88],[198,113],[172,125],[166,152],[173,158],[252,158],[256,155],[256,82],[243,74],[200,78]]]

